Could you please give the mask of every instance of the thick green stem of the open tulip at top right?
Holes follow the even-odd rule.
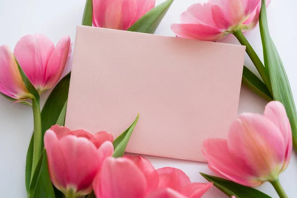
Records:
[[[257,70],[258,70],[260,76],[262,77],[265,85],[267,86],[271,96],[273,96],[268,70],[263,65],[259,56],[256,54],[254,49],[248,43],[247,38],[245,37],[245,35],[241,31],[241,29],[234,32],[233,34],[238,39],[238,41],[241,43],[241,45],[246,46],[247,55],[250,57],[251,61],[254,63],[255,67],[257,68]]]

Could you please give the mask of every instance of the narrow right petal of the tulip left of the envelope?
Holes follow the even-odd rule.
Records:
[[[44,73],[45,81],[43,84],[43,91],[50,89],[52,86],[54,86],[61,77],[63,70],[65,68],[69,49],[70,37],[68,35],[63,36],[57,43],[51,56],[49,57],[46,73]]]

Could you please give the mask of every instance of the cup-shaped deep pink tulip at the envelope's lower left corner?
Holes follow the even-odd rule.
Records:
[[[49,174],[53,185],[67,197],[92,192],[92,182],[103,160],[113,153],[112,135],[52,126],[45,134]]]

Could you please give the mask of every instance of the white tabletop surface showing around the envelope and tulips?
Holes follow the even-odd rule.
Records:
[[[156,4],[164,0],[156,0]],[[174,36],[170,24],[178,23],[180,14],[193,3],[202,0],[175,0],[164,17],[155,34]],[[75,39],[76,25],[81,24],[85,0],[0,0],[0,45],[6,44],[11,49],[24,35],[42,33],[56,43],[62,35],[68,34],[72,42]],[[268,8],[268,20],[271,36],[282,57],[292,91],[297,100],[297,23],[296,0],[272,0]],[[258,26],[246,34],[247,39],[257,54],[262,57],[262,47]],[[238,44],[232,36],[223,42]],[[253,69],[246,56],[245,64]],[[69,71],[71,59],[67,63]],[[1,72],[1,71],[0,71]],[[232,78],[232,75],[230,75]],[[43,95],[44,103],[49,92]],[[263,99],[242,87],[239,113],[262,113],[265,105]],[[0,194],[6,198],[25,198],[25,159],[33,129],[32,110],[21,104],[11,104],[0,97]],[[182,147],[182,145],[177,145]],[[289,197],[296,197],[297,189],[297,157],[293,151],[288,169],[280,175],[280,181]],[[199,162],[188,162],[157,157],[148,157],[155,168],[172,166],[182,169],[192,182],[206,182],[199,172],[212,174],[207,165]],[[277,194],[269,183],[258,188],[264,193],[277,198]],[[226,198],[223,193],[213,187],[203,198]]]

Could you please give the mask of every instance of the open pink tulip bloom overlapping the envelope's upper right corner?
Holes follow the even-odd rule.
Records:
[[[181,15],[182,24],[172,24],[171,29],[178,37],[216,41],[240,29],[253,29],[260,8],[261,0],[209,0],[190,6]]]

